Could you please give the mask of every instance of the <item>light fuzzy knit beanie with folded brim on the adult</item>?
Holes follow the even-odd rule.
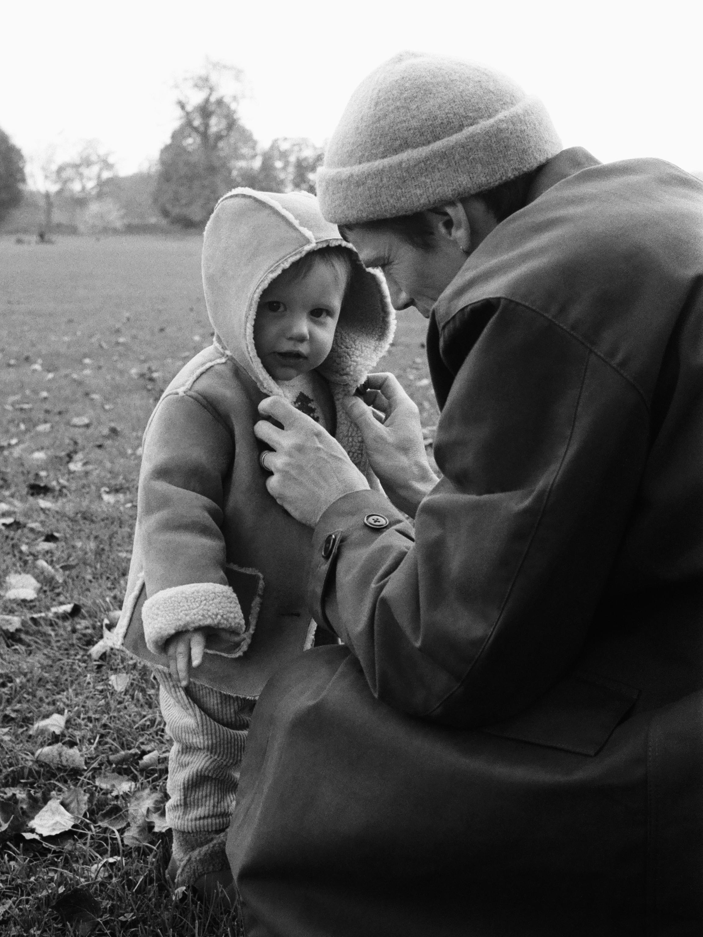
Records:
[[[411,215],[560,151],[542,102],[500,72],[400,52],[354,91],[318,171],[318,199],[337,225]]]

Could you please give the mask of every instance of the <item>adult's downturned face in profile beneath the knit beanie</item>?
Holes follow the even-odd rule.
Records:
[[[466,260],[466,254],[445,238],[426,248],[382,228],[354,227],[347,236],[365,267],[381,269],[396,309],[414,305],[426,319]]]

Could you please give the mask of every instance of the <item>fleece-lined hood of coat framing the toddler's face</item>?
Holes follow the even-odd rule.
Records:
[[[265,394],[282,392],[254,348],[254,320],[262,291],[296,260],[331,246],[343,247],[354,257],[332,350],[318,368],[338,400],[366,379],[393,339],[396,316],[381,273],[365,269],[352,245],[324,220],[317,199],[307,192],[235,188],[217,202],[207,223],[202,285],[216,342]]]

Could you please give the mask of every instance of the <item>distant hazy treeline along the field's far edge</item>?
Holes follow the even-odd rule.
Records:
[[[244,76],[206,62],[177,88],[180,114],[150,171],[119,176],[98,141],[58,161],[51,147],[25,172],[21,151],[0,130],[0,231],[37,234],[200,229],[234,186],[314,191],[322,147],[277,138],[262,147],[239,116]],[[27,179],[29,175],[29,179]]]

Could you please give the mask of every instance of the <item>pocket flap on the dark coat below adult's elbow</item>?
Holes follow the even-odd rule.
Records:
[[[635,706],[639,691],[596,674],[564,677],[513,719],[485,726],[492,736],[595,755]]]

